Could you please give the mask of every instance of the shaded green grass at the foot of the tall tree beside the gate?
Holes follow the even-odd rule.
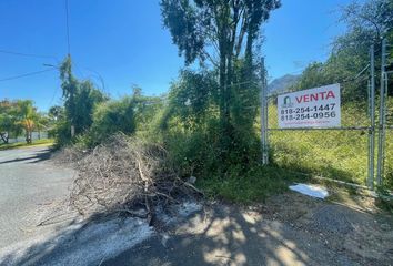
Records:
[[[198,180],[209,198],[250,204],[264,202],[269,196],[288,191],[293,182],[308,180],[303,174],[290,173],[275,166],[255,166],[248,171],[232,170],[225,177]]]

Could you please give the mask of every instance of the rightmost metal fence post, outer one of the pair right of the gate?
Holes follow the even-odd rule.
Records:
[[[385,125],[386,125],[386,88],[385,88],[385,64],[386,64],[386,40],[382,40],[381,44],[381,89],[380,89],[380,120],[379,120],[379,137],[377,137],[377,166],[376,166],[376,184],[382,185],[384,175],[384,156],[385,156]]]

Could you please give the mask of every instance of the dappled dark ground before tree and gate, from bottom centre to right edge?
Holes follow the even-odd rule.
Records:
[[[330,193],[210,203],[103,265],[393,265],[393,217],[371,197]]]

